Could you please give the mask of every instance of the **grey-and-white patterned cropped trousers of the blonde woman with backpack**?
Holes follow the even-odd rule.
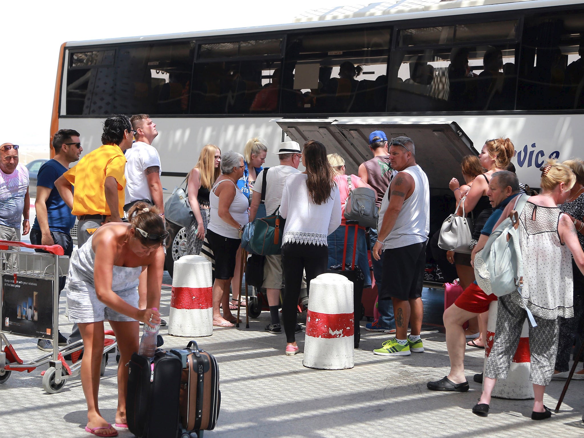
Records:
[[[509,366],[519,345],[526,310],[520,306],[517,291],[499,297],[495,340],[486,359],[485,377],[507,378]],[[559,322],[556,319],[536,317],[537,327],[529,325],[531,371],[529,380],[536,385],[548,385],[554,373],[558,350]]]

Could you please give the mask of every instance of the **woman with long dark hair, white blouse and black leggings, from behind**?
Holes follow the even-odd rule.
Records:
[[[335,172],[326,159],[326,148],[308,140],[302,151],[303,173],[288,176],[282,193],[280,215],[286,218],[282,239],[282,262],[286,291],[282,302],[282,321],[286,332],[286,354],[298,353],[294,338],[296,308],[303,271],[306,283],[326,272],[326,237],[340,225],[340,194]]]

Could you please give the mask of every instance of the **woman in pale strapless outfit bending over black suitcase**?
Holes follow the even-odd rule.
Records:
[[[164,248],[168,238],[157,207],[138,202],[128,211],[128,223],[107,223],[73,253],[65,292],[69,321],[77,322],[84,345],[81,385],[87,401],[86,432],[117,436],[98,408],[100,367],[103,356],[103,322],[109,322],[117,339],[118,399],[115,422],[126,425],[128,368],[138,351],[138,321],[160,324]],[[148,269],[147,269],[148,268]],[[138,277],[147,269],[147,305],[138,309]]]

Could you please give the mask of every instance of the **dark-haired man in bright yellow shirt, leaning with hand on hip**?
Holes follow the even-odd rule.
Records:
[[[78,246],[88,241],[95,228],[121,222],[126,187],[124,151],[132,147],[135,133],[128,117],[108,117],[103,123],[103,145],[55,181],[62,199],[79,219]]]

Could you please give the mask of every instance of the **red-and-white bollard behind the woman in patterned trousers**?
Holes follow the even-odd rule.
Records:
[[[497,322],[497,301],[489,305],[489,321],[486,328],[485,366],[486,358],[491,354],[495,340]],[[500,378],[493,388],[492,397],[510,400],[529,400],[533,398],[533,385],[529,381],[531,371],[531,354],[529,352],[529,320],[526,318],[521,331],[519,345],[511,361],[507,378]],[[484,370],[484,368],[483,368]]]

